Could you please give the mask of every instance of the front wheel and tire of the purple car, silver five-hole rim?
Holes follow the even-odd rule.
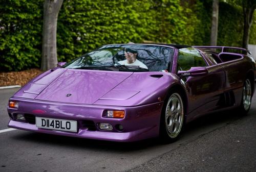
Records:
[[[160,121],[160,138],[165,143],[176,141],[185,123],[184,103],[178,91],[170,92],[164,102]]]

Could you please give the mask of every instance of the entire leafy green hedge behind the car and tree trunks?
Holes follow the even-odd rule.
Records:
[[[40,67],[43,3],[2,0],[0,71]],[[129,41],[208,45],[211,6],[211,0],[64,1],[57,26],[58,60]],[[221,2],[219,17],[218,45],[241,46],[241,9]],[[255,22],[253,28],[250,43],[256,40]]]

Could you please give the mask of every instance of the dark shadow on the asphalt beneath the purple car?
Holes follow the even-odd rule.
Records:
[[[182,144],[184,141],[188,141],[186,137],[188,137],[189,134],[195,135],[194,138],[197,138],[202,134],[202,132],[199,131],[205,131],[205,133],[203,134],[206,134],[218,129],[220,126],[224,127],[226,125],[236,123],[242,118],[246,118],[249,115],[254,114],[253,111],[255,110],[251,109],[247,116],[240,115],[236,111],[224,111],[202,116],[186,125],[185,131],[183,132],[181,138],[176,143]],[[144,149],[154,148],[156,146],[163,144],[159,141],[158,138],[146,139],[138,142],[120,143],[33,132],[23,132],[22,134],[14,135],[11,138],[14,140],[28,141],[35,144],[40,143],[66,146],[68,149],[79,148],[90,149],[95,151],[113,152],[142,151]],[[170,146],[171,145],[172,143],[170,144]]]

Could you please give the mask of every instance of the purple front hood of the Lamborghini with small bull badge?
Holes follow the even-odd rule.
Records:
[[[177,78],[167,72],[57,68],[42,73],[14,97],[72,104],[138,106],[163,100]]]

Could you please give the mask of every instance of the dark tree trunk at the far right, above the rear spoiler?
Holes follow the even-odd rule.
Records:
[[[244,13],[244,33],[243,33],[243,48],[248,49],[249,34],[252,24],[253,12],[256,8],[256,1],[243,1]]]

